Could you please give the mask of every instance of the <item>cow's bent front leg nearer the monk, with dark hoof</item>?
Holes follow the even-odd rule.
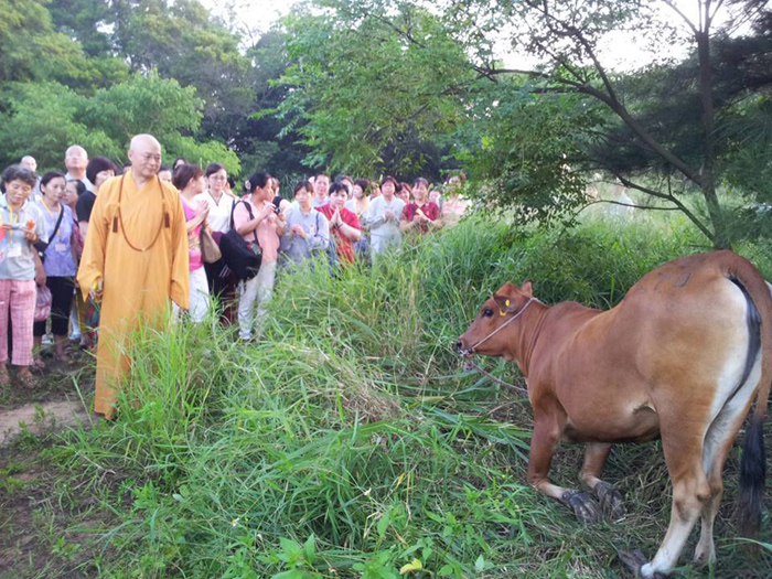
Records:
[[[528,457],[528,482],[538,492],[551,496],[567,505],[583,523],[598,521],[600,508],[594,498],[588,493],[575,489],[564,489],[553,484],[547,474],[553,463],[555,444],[566,425],[566,416],[559,410],[540,411],[534,415],[534,436],[530,440]]]

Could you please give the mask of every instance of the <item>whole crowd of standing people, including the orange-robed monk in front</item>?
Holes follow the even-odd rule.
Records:
[[[31,156],[3,171],[0,385],[11,383],[10,353],[17,382],[35,386],[31,371],[45,367],[49,335],[54,358],[65,364],[71,342],[96,346],[95,411],[110,418],[130,362],[126,341],[140,320],[160,323],[171,303],[175,315],[186,310],[201,322],[217,307],[223,323],[237,322],[240,339],[251,340],[265,326],[277,269],[321,264],[335,275],[465,211],[458,196],[463,175],[441,193],[422,178],[332,180],[320,172],[297,183],[289,200],[268,172],[251,174],[239,196],[222,164],[162,165],[161,146],[149,135],[131,140],[128,157],[119,169],[74,144],[64,171],[37,176]],[[217,249],[234,235],[260,256],[242,279]]]

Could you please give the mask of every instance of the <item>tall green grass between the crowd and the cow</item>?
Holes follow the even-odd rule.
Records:
[[[653,555],[669,507],[653,447],[612,457],[635,514],[581,527],[524,485],[527,405],[464,373],[453,344],[507,280],[605,308],[698,243],[677,219],[471,221],[375,268],[281,276],[257,343],[213,319],[143,331],[118,419],[56,450],[118,517],[105,575],[608,577],[616,548]],[[576,485],[578,460],[558,455],[555,478]]]

